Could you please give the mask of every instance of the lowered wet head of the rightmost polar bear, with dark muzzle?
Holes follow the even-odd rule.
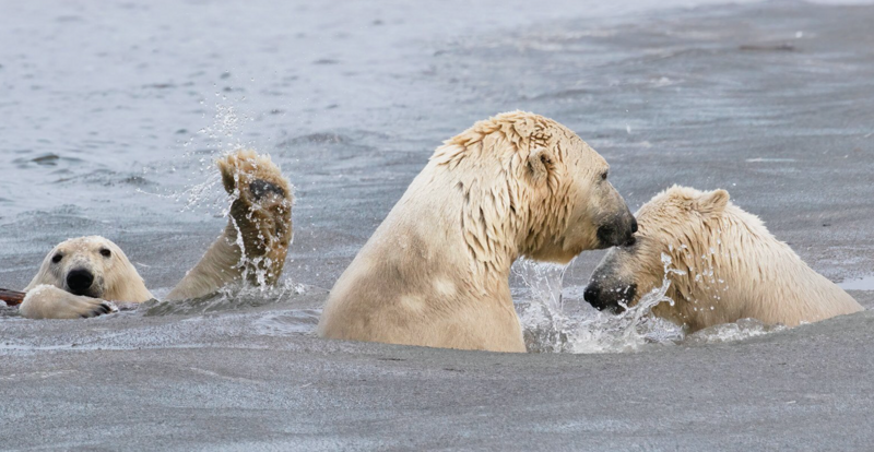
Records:
[[[677,301],[700,295],[693,294],[699,286],[719,285],[713,270],[723,266],[718,260],[732,245],[720,239],[727,237],[722,229],[731,227],[723,222],[728,205],[725,190],[674,186],[657,194],[637,212],[640,230],[634,243],[611,249],[592,273],[586,301],[618,313],[665,277],[672,283],[668,296]],[[678,272],[665,274],[665,265]]]

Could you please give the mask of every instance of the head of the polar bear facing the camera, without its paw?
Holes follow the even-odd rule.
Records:
[[[68,239],[56,246],[25,292],[40,284],[114,301],[153,298],[121,248],[99,236]]]

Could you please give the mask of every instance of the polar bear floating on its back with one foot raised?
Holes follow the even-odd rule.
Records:
[[[233,198],[228,224],[197,265],[165,297],[198,298],[246,279],[275,283],[292,240],[292,186],[269,156],[239,151],[217,162]],[[125,252],[103,237],[80,237],[56,246],[24,289],[20,307],[31,319],[75,319],[109,312],[106,300],[154,298]]]

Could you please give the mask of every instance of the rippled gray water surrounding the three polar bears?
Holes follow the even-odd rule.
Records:
[[[211,162],[238,146],[270,153],[297,197],[276,289],[81,322],[0,310],[3,449],[874,441],[870,311],[685,338],[656,325],[634,353],[594,355],[311,333],[434,147],[517,108],[587,140],[633,210],[674,182],[725,188],[815,270],[864,281],[874,7],[2,1],[0,16],[0,287],[24,287],[60,240],[99,234],[165,293],[223,227]],[[546,270],[553,282],[564,272],[565,314],[594,316],[581,287],[601,255]],[[530,272],[511,282],[522,313],[551,299]]]

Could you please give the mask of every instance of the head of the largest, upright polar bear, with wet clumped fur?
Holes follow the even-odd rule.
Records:
[[[584,250],[628,243],[637,230],[604,158],[540,115],[480,121],[437,148],[432,165],[428,177],[444,178],[462,200],[461,228],[479,262],[504,253],[567,263]]]

